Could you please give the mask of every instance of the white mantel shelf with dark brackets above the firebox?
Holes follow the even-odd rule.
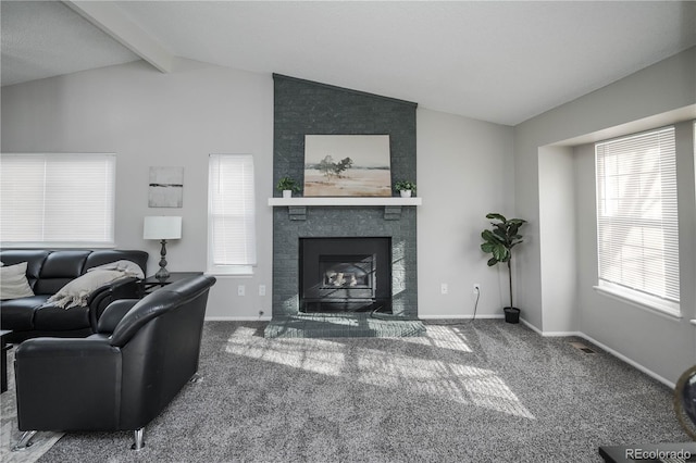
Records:
[[[385,221],[398,221],[401,218],[401,207],[403,205],[421,205],[422,198],[400,198],[400,197],[383,197],[383,198],[360,198],[360,197],[340,197],[340,198],[269,198],[269,205],[272,208],[287,208],[288,216],[291,221],[307,220],[308,207],[383,207]]]

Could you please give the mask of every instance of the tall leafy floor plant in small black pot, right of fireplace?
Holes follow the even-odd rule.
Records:
[[[510,280],[510,306],[504,308],[505,321],[508,323],[520,323],[520,309],[512,303],[512,248],[522,242],[522,235],[518,232],[526,221],[522,218],[506,218],[504,215],[492,212],[486,215],[496,222],[490,222],[493,229],[485,229],[481,233],[483,243],[481,250],[493,254],[488,259],[488,266],[494,266],[498,262],[508,264],[508,278]]]

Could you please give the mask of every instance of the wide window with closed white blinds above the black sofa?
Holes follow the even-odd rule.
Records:
[[[3,247],[113,247],[115,154],[0,154]]]

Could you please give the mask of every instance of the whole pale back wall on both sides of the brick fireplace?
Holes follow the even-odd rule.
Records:
[[[204,271],[208,154],[254,154],[259,265],[253,277],[219,277],[209,318],[271,314],[273,80],[179,60],[161,74],[144,62],[2,88],[2,151],[117,153],[116,246],[146,249],[158,268],[159,245],[142,240],[146,215],[183,215],[183,239],[167,246],[171,271]],[[500,314],[505,268],[488,268],[480,233],[487,212],[512,213],[512,129],[418,110],[419,308],[422,316]],[[184,166],[184,208],[150,209],[148,168]],[[449,295],[440,295],[440,283]],[[246,296],[237,296],[237,286]],[[265,285],[265,297],[258,286]]]

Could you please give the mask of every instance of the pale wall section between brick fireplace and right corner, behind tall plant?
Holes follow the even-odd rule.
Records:
[[[508,305],[507,267],[486,265],[481,232],[486,214],[513,215],[512,128],[419,109],[418,281],[419,316],[502,315]],[[442,284],[448,293],[440,292]]]

